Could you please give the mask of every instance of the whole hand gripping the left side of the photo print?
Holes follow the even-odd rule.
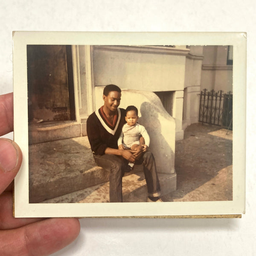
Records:
[[[13,131],[13,95],[0,96],[0,136]],[[0,255],[46,256],[70,244],[79,234],[76,218],[14,218],[12,184],[22,153],[9,139],[0,138]],[[6,189],[7,188],[7,189]]]

